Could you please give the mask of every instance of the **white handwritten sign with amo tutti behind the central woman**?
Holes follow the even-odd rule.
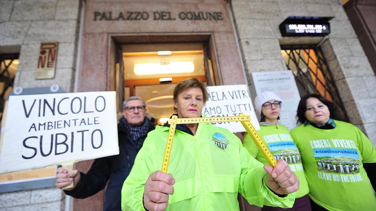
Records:
[[[208,86],[208,97],[202,109],[202,116],[238,116],[244,113],[251,116],[253,127],[256,130],[260,129],[246,84]],[[233,133],[246,131],[240,122],[212,122],[212,124],[226,128]]]

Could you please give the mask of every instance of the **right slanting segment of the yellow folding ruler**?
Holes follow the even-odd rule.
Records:
[[[239,116],[244,116],[244,113],[241,113]],[[262,141],[260,135],[257,133],[253,125],[250,121],[244,121],[241,122],[243,127],[246,129],[247,133],[252,137],[252,140],[256,143],[256,146],[261,151],[262,155],[264,155],[264,158],[268,162],[270,166],[276,166],[277,161],[274,159],[273,154],[271,154],[269,148],[265,143]]]

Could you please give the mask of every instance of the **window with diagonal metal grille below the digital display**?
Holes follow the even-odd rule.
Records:
[[[293,71],[300,96],[319,94],[333,102],[347,121],[346,111],[320,47],[315,45],[282,45],[287,68]]]

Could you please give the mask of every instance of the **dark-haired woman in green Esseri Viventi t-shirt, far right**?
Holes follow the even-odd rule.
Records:
[[[367,136],[340,121],[334,104],[320,95],[303,96],[297,117],[301,125],[290,134],[302,156],[312,210],[374,210],[376,150]]]

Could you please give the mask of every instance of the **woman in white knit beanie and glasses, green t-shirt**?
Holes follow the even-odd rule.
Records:
[[[265,91],[256,96],[255,110],[261,127],[257,132],[264,143],[268,145],[274,158],[276,160],[285,160],[288,163],[290,169],[299,178],[300,185],[292,208],[283,209],[264,206],[262,211],[311,211],[308,197],[309,188],[304,175],[300,152],[294,144],[287,127],[281,125],[278,121],[282,104],[283,100],[274,92]],[[258,161],[264,165],[268,164],[248,133],[244,136],[243,146]]]

